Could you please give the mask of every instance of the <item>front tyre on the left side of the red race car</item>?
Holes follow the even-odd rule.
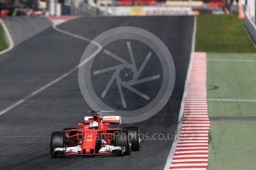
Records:
[[[54,158],[62,157],[61,155],[54,154],[53,151],[56,148],[65,147],[65,133],[64,132],[53,132],[50,137],[50,155]]]

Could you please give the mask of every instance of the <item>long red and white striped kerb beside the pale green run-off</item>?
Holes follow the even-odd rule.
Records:
[[[196,52],[191,67],[182,128],[170,169],[206,170],[210,121],[206,94],[206,53]]]

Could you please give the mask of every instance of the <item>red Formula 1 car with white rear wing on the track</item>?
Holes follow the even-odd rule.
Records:
[[[139,128],[129,126],[111,128],[120,124],[120,116],[100,116],[91,112],[85,117],[81,128],[65,128],[62,132],[53,132],[50,139],[52,157],[86,155],[129,155],[140,150]]]

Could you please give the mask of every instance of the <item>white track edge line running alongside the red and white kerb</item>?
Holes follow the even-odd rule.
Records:
[[[186,95],[188,93],[188,84],[189,84],[189,77],[191,75],[191,67],[192,67],[192,63],[193,63],[193,58],[194,58],[194,47],[195,47],[195,39],[196,39],[196,33],[197,33],[197,17],[194,16],[194,28],[193,28],[193,37],[191,40],[191,55],[190,55],[190,61],[189,61],[189,65],[188,65],[188,71],[187,71],[187,75],[186,75],[186,82],[185,82],[185,86],[184,86],[184,92],[183,92],[183,99],[180,103],[180,115],[179,115],[179,124],[177,126],[177,134],[175,135],[174,138],[174,142],[172,143],[171,146],[171,151],[168,154],[166,163],[165,163],[165,170],[170,169],[170,165],[172,162],[172,159],[174,157],[174,153],[178,144],[178,137],[180,135],[180,130],[182,128],[182,118],[183,118],[183,112],[185,109],[185,103],[186,103]]]

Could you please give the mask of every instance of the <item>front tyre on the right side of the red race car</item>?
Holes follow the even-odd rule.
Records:
[[[124,155],[131,154],[131,141],[127,130],[119,130],[114,132],[115,146],[125,147]]]

